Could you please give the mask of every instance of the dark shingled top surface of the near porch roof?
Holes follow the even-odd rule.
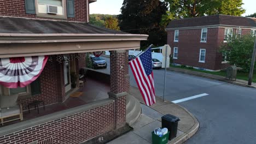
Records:
[[[0,17],[0,33],[26,34],[127,34],[88,23]]]

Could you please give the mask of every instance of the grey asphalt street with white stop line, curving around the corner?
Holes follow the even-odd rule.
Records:
[[[129,73],[130,84],[137,87],[130,69]],[[156,95],[162,97],[164,69],[153,73]],[[197,133],[185,143],[256,143],[256,89],[167,71],[166,100],[203,93],[208,95],[178,103],[200,122]]]

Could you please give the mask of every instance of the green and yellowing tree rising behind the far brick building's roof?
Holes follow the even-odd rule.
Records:
[[[205,15],[234,15],[245,13],[242,0],[165,0],[169,4],[169,15],[174,18],[198,17]],[[167,23],[167,22],[166,22]]]

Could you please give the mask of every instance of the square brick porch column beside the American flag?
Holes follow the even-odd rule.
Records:
[[[129,93],[128,51],[110,51],[110,92],[115,100],[115,127],[126,124],[126,95]]]

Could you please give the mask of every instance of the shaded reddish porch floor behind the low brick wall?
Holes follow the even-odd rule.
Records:
[[[32,106],[30,109],[30,113],[28,113],[28,111],[23,112],[24,121],[28,119],[33,119],[36,117],[48,115],[50,113],[54,113],[57,111],[70,109],[72,107],[88,104],[88,103],[91,103],[92,101],[107,99],[108,98],[107,92],[109,91],[110,91],[109,83],[104,83],[101,81],[91,79],[90,77],[86,77],[86,82],[84,82],[84,87],[80,87],[77,91],[77,92],[83,92],[83,94],[80,95],[80,97],[69,97],[64,103],[45,106],[45,110],[43,109],[43,107],[39,107],[39,114],[37,113],[37,110],[34,110],[34,107]],[[4,126],[18,123],[18,122],[20,121],[12,121],[8,123],[4,123]],[[3,127],[3,126],[0,124],[0,127]]]

